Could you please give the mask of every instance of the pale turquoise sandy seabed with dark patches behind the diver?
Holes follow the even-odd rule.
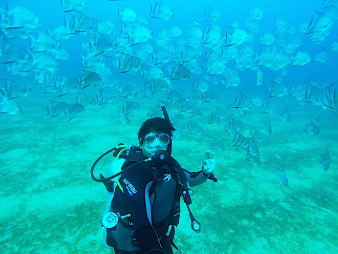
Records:
[[[100,154],[118,143],[137,145],[138,129],[154,108],[154,98],[164,96],[161,93],[126,99],[140,104],[138,111],[129,114],[129,125],[118,119],[120,106],[125,105],[120,97],[102,108],[88,106],[67,122],[64,116],[46,114],[46,105],[55,95],[35,91],[17,100],[23,114],[0,115],[0,252],[111,253],[101,243],[106,191],[91,179],[90,168]],[[244,124],[240,133],[245,136],[250,125],[264,132],[265,121],[271,122],[272,134],[258,143],[261,163],[255,166],[245,159],[245,152],[235,149],[233,138],[223,129],[224,121],[207,124],[214,106],[226,109],[233,99],[221,96],[216,102],[196,104],[204,112],[199,118],[182,112],[183,136],[174,140],[172,155],[183,168],[200,170],[213,139],[221,140],[225,149],[214,150],[218,182],[193,188],[191,209],[202,225],[200,233],[191,229],[182,204],[176,245],[184,254],[338,253],[337,118],[325,111],[320,133],[310,134],[304,126],[318,107],[296,107],[290,97],[271,99],[279,109],[288,101],[290,122],[279,114],[261,113],[258,107],[233,116]],[[167,110],[177,113],[176,108]],[[188,134],[188,120],[204,128],[203,137]],[[331,165],[324,172],[319,156],[326,147]],[[108,155],[100,161],[96,177],[100,172],[107,175],[111,160]],[[288,187],[276,177],[282,165]]]

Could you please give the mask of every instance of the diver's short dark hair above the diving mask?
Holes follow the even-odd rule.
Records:
[[[163,118],[151,118],[146,120],[140,130],[138,131],[138,139],[143,143],[142,139],[143,136],[149,132],[163,132],[167,133],[170,136],[173,135],[173,131],[175,130],[174,126],[172,123],[166,121]]]

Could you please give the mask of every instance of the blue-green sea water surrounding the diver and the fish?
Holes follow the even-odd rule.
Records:
[[[4,11],[6,3],[0,8]],[[180,225],[176,233],[176,244],[182,253],[337,253],[338,234],[337,216],[337,189],[338,180],[337,153],[337,103],[334,94],[338,77],[338,51],[332,50],[331,45],[338,42],[337,18],[338,3],[336,1],[167,1],[166,4],[173,10],[174,17],[164,20],[151,18],[151,6],[154,1],[94,1],[87,0],[87,8],[77,11],[64,12],[66,6],[60,1],[11,1],[35,13],[41,26],[30,31],[32,37],[38,36],[37,31],[46,33],[46,29],[53,31],[56,26],[64,26],[65,18],[68,21],[81,16],[79,12],[90,20],[110,21],[116,26],[113,35],[117,49],[113,54],[101,52],[104,64],[111,74],[100,74],[103,77],[112,77],[116,84],[133,82],[137,87],[137,94],[119,95],[118,86],[105,87],[104,84],[91,85],[58,97],[61,94],[62,83],[38,84],[36,75],[60,74],[64,77],[73,77],[81,84],[86,76],[83,69],[88,68],[81,62],[81,57],[89,54],[89,47],[82,48],[88,40],[95,41],[93,30],[75,32],[67,39],[59,40],[61,49],[65,49],[69,58],[56,60],[58,69],[38,70],[28,69],[25,72],[11,75],[16,67],[7,62],[5,50],[15,46],[26,49],[31,53],[31,40],[24,38],[2,38],[0,57],[0,87],[5,89],[5,83],[13,81],[26,82],[31,91],[27,94],[19,93],[11,99],[21,108],[22,113],[0,115],[0,163],[2,197],[0,204],[0,237],[2,253],[109,253],[101,245],[102,231],[100,220],[103,215],[105,192],[103,185],[91,181],[90,167],[95,159],[104,151],[120,142],[137,145],[137,131],[147,118],[151,110],[155,110],[157,100],[171,103],[168,112],[184,115],[184,120],[178,122],[182,136],[174,141],[173,156],[188,170],[200,170],[205,150],[213,149],[212,142],[220,140],[224,148],[214,149],[217,168],[215,175],[217,183],[208,181],[202,186],[195,187],[193,205],[195,217],[201,222],[202,230],[199,234],[190,229],[187,213],[183,212]],[[331,4],[333,6],[331,6]],[[204,13],[208,7],[219,11],[220,17],[215,21],[204,21]],[[309,62],[304,65],[286,66],[272,70],[260,66],[264,74],[264,84],[256,85],[256,66],[235,70],[241,80],[236,87],[223,90],[222,80],[225,74],[207,76],[206,65],[210,60],[205,58],[210,49],[221,54],[227,49],[229,38],[236,30],[234,22],[249,33],[245,21],[248,19],[252,7],[261,9],[263,17],[252,21],[259,27],[259,31],[251,32],[251,41],[231,46],[238,50],[251,47],[253,54],[258,57],[262,52],[272,50],[275,54],[283,51],[283,47],[290,43],[292,38],[298,38],[301,44],[287,52],[294,57],[297,52],[307,52],[313,61],[315,52],[324,51],[328,59],[323,63]],[[325,8],[324,8],[325,7]],[[7,13],[13,8],[8,4]],[[142,22],[120,22],[118,13],[123,8],[135,11],[138,20]],[[311,36],[319,31],[311,30],[321,15],[328,15],[330,22],[325,38],[320,43],[311,41]],[[285,34],[276,34],[276,18],[290,24]],[[10,17],[9,17],[10,18]],[[74,18],[74,19],[73,19]],[[312,20],[312,22],[311,22]],[[2,12],[2,21],[6,15]],[[142,88],[150,89],[147,77],[142,75],[149,66],[154,65],[152,54],[142,59],[142,66],[135,73],[122,73],[125,67],[118,68],[116,63],[124,63],[125,53],[134,55],[149,44],[153,47],[154,55],[163,50],[157,45],[159,32],[180,28],[182,34],[167,40],[167,48],[173,48],[170,61],[156,65],[163,72],[163,77],[172,79],[170,70],[176,70],[178,63],[183,63],[186,52],[187,38],[193,28],[204,31],[212,25],[221,29],[221,40],[215,44],[201,44],[195,50],[200,52],[196,62],[201,73],[191,73],[187,80],[171,80],[170,89],[181,91],[183,101],[193,102],[194,106],[202,111],[199,117],[189,117],[192,108],[181,107],[175,99],[168,99],[168,89],[156,91],[153,94],[142,96]],[[25,25],[25,24],[22,24]],[[144,26],[150,29],[152,37],[136,45],[125,44],[127,27]],[[300,27],[306,31],[300,31]],[[8,28],[2,23],[3,31],[20,28]],[[292,33],[288,30],[293,29]],[[272,45],[258,44],[259,36],[270,33],[274,36]],[[305,34],[309,33],[309,34]],[[98,36],[96,34],[96,36]],[[319,36],[322,38],[322,36]],[[122,45],[122,41],[124,44]],[[95,44],[96,45],[96,44]],[[240,51],[242,52],[242,51]],[[44,52],[43,52],[44,53]],[[48,53],[47,51],[45,53]],[[236,61],[222,61],[227,70],[236,68]],[[240,53],[235,58],[239,59]],[[14,62],[19,62],[16,59]],[[114,64],[115,63],[115,64]],[[257,58],[252,60],[257,63]],[[14,68],[12,70],[8,70]],[[257,67],[256,67],[257,68]],[[280,76],[289,95],[292,87],[307,87],[303,99],[294,96],[268,97],[267,87],[272,87],[271,80]],[[207,102],[194,101],[186,94],[193,95],[193,84],[200,79],[209,85],[209,91],[218,93],[217,100]],[[56,81],[56,77],[50,82]],[[315,82],[314,82],[315,81]],[[80,84],[79,83],[79,84]],[[322,97],[316,100],[308,96],[311,92],[309,83],[323,92]],[[325,87],[333,84],[330,89]],[[42,87],[52,87],[50,92],[44,93]],[[98,105],[96,101],[103,89],[114,94],[112,102]],[[15,90],[15,89],[14,89]],[[313,92],[312,88],[312,92]],[[185,93],[183,93],[185,92]],[[93,103],[82,103],[85,111],[75,115],[74,119],[65,118],[64,113],[50,118],[46,106],[51,107],[50,101],[77,103],[78,94],[86,94],[93,99]],[[243,105],[238,100],[244,94],[251,101],[256,96],[264,105],[269,102],[276,106],[276,112],[264,112],[264,105],[251,105],[242,111]],[[6,92],[3,92],[6,96]],[[25,95],[25,96],[24,96]],[[328,101],[323,101],[325,100]],[[242,97],[243,98],[243,97]],[[130,123],[122,123],[119,119],[121,106],[126,107],[126,101],[139,104],[137,111],[128,114]],[[329,104],[329,105],[328,105]],[[127,104],[128,105],[128,104]],[[282,108],[288,107],[290,121],[283,121],[280,115]],[[228,118],[220,119],[220,124],[208,124],[208,116],[219,107],[228,111]],[[318,118],[318,112],[320,118]],[[243,123],[238,130],[243,136],[252,140],[250,130],[254,127],[265,134],[266,140],[258,142],[260,163],[256,165],[250,161],[250,148],[236,143],[228,132],[224,130],[229,118]],[[306,125],[312,121],[319,127],[319,133],[305,131]],[[266,133],[265,122],[271,123],[272,134]],[[191,133],[187,128],[188,121],[198,124],[203,129],[203,135]],[[331,163],[329,170],[324,172],[320,162],[320,155],[329,151]],[[107,165],[111,158],[106,159],[97,169],[107,172]],[[285,166],[288,178],[288,187],[280,184],[276,174],[281,166]],[[107,173],[106,173],[107,174]],[[178,253],[177,251],[175,253]]]

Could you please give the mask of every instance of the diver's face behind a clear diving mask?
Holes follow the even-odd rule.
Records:
[[[140,145],[146,157],[153,157],[157,150],[167,150],[171,137],[165,133],[150,132],[144,135]]]

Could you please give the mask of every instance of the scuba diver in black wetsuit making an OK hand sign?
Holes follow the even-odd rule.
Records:
[[[161,105],[163,118],[146,120],[138,132],[139,147],[123,146],[109,150],[94,163],[93,180],[103,182],[109,191],[107,213],[102,218],[105,229],[103,244],[115,254],[172,254],[175,226],[179,223],[180,197],[183,197],[192,229],[200,231],[189,204],[192,203],[190,186],[217,181],[214,153],[206,151],[202,170],[189,172],[171,157],[175,128]],[[114,151],[116,160],[110,166],[112,175],[94,177],[96,163]],[[121,171],[116,173],[116,168]]]

